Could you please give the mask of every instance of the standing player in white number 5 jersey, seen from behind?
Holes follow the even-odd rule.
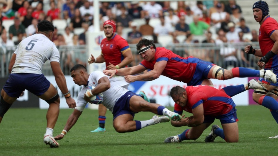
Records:
[[[53,24],[42,20],[37,27],[37,34],[23,39],[11,57],[9,64],[11,74],[1,90],[0,123],[13,102],[24,90],[28,90],[49,104],[43,141],[50,147],[58,147],[59,143],[54,140],[52,133],[59,116],[60,98],[56,88],[42,74],[42,65],[45,61],[50,60],[56,83],[64,94],[69,108],[76,107],[76,103],[66,86],[66,79],[59,63],[59,51],[51,41]]]

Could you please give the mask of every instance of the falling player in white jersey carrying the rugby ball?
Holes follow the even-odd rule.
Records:
[[[106,76],[102,71],[93,71],[88,74],[86,68],[81,64],[71,68],[71,77],[74,83],[79,86],[82,85],[82,88],[78,94],[73,113],[66,122],[64,130],[55,137],[55,140],[64,138],[64,135],[78,120],[91,97],[99,93],[103,94],[102,104],[113,113],[113,127],[119,133],[137,131],[149,125],[168,122],[170,119],[181,120],[178,113],[173,113],[159,104],[149,103],[137,94],[121,87],[129,84],[124,80],[124,77],[117,76],[109,79],[109,76]],[[86,86],[95,86],[95,88],[86,92]],[[158,117],[155,115],[150,120],[133,121],[134,114],[141,111],[165,116]]]

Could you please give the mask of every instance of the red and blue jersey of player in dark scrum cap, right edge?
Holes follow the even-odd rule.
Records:
[[[265,56],[269,52],[273,45],[274,41],[270,38],[274,30],[278,29],[277,21],[272,17],[267,17],[262,25],[260,26],[259,31],[259,43],[262,55]],[[266,64],[265,69],[278,69],[278,58],[277,55],[272,57]]]

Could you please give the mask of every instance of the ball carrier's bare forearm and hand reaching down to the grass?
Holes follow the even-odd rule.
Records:
[[[64,136],[66,135],[67,132],[69,132],[69,130],[71,129],[71,127],[74,126],[74,124],[76,123],[76,121],[78,120],[78,118],[81,115],[81,111],[78,111],[77,109],[74,109],[74,111],[71,113],[71,115],[69,116],[68,121],[66,122],[66,126],[64,127],[64,130],[62,131],[61,134],[57,135],[54,137],[55,140],[61,140],[64,138]]]

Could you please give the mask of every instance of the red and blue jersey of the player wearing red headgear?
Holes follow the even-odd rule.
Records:
[[[103,55],[106,67],[111,64],[120,64],[124,59],[123,54],[130,50],[127,41],[120,35],[115,34],[111,40],[104,38],[100,43],[101,55]]]

